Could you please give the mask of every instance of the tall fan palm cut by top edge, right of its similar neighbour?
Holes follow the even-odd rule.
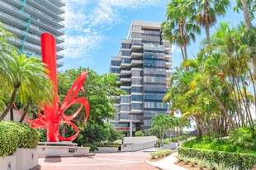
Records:
[[[229,0],[197,0],[188,2],[188,7],[197,8],[197,24],[206,30],[207,40],[210,40],[210,27],[216,23],[217,16],[225,16],[226,8],[230,7]]]

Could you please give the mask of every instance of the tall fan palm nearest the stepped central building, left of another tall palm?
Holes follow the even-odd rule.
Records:
[[[195,34],[201,34],[199,26],[193,23],[193,10],[187,7],[187,0],[173,0],[168,3],[164,21],[161,26],[164,39],[178,45],[183,54],[183,60],[187,59],[187,45],[191,40],[195,41]]]

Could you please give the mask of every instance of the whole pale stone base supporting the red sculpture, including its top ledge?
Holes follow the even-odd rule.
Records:
[[[85,156],[89,153],[88,147],[78,147],[71,142],[45,142],[37,146],[40,157],[45,156]]]

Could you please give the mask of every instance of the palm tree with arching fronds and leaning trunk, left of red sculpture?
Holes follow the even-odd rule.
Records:
[[[34,57],[26,59],[26,56],[21,54],[12,55],[12,62],[7,65],[1,61],[0,67],[4,67],[6,70],[7,89],[11,91],[7,108],[2,112],[0,121],[7,116],[17,94],[22,103],[37,102],[39,104],[40,101],[47,103],[52,100],[52,85],[46,74],[48,70],[40,62],[40,59]]]

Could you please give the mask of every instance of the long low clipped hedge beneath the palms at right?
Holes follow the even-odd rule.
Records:
[[[229,153],[225,151],[178,148],[178,154],[188,158],[205,159],[210,162],[225,162],[228,166],[238,166],[239,170],[252,169],[256,165],[256,155],[249,153]]]

